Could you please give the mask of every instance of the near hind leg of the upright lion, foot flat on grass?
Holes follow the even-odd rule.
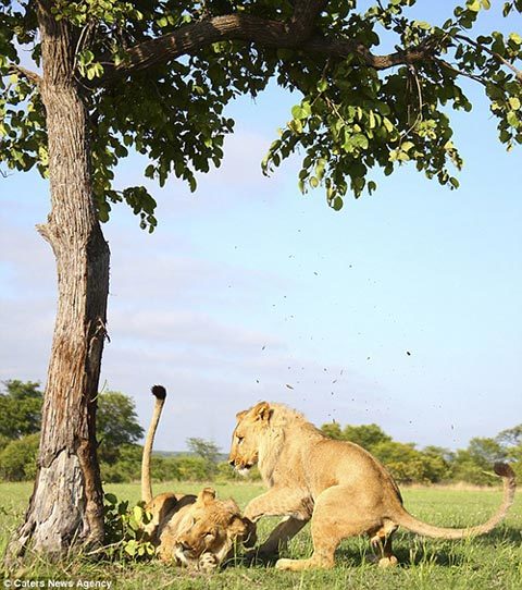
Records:
[[[334,566],[334,553],[343,539],[378,530],[369,507],[357,503],[352,490],[335,485],[325,490],[315,502],[311,520],[313,554],[308,560],[279,560],[278,569],[315,569]]]

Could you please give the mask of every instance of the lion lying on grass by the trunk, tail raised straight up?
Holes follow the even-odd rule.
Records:
[[[251,546],[256,542],[256,526],[241,516],[233,500],[217,500],[212,488],[197,496],[162,493],[152,497],[150,458],[166,391],[154,385],[152,394],[154,411],[141,459],[141,500],[151,517],[145,531],[163,562],[199,569],[217,567],[232,556],[236,543]]]

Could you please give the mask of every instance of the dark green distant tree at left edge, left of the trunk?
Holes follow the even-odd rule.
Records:
[[[0,435],[20,439],[40,431],[44,395],[40,384],[16,379],[4,382],[0,393]]]

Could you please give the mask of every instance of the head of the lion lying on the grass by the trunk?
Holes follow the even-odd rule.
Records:
[[[172,539],[172,556],[181,565],[216,567],[234,552],[236,543],[251,546],[256,526],[244,518],[233,500],[216,500],[204,488],[191,504]]]

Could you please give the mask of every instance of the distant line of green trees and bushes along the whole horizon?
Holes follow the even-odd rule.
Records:
[[[36,458],[44,395],[39,383],[12,380],[0,392],[0,479],[32,480]],[[105,392],[99,395],[98,453],[102,479],[105,482],[135,481],[140,477],[144,435],[136,407],[127,395]],[[400,483],[468,482],[493,485],[496,460],[510,460],[522,477],[522,425],[502,430],[494,439],[474,438],[467,448],[450,451],[439,446],[417,448],[414,443],[401,443],[377,425],[323,425],[321,430],[337,440],[351,441],[370,451]],[[215,443],[203,439],[187,439],[189,453],[154,453],[152,478],[157,481],[235,479]],[[253,470],[252,479],[259,478]]]

